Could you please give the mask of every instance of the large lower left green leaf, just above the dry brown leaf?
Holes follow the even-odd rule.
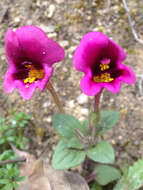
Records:
[[[52,166],[55,170],[63,170],[75,167],[85,159],[83,151],[67,148],[68,140],[61,139],[56,147],[52,159]]]

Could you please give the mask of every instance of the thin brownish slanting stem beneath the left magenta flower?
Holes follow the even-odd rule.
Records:
[[[63,107],[62,107],[62,104],[57,96],[57,93],[55,91],[55,89],[53,88],[51,82],[49,81],[48,84],[47,84],[47,88],[48,90],[50,91],[51,95],[53,96],[53,99],[56,103],[56,105],[58,106],[58,109],[61,113],[64,113],[64,110],[63,110]]]

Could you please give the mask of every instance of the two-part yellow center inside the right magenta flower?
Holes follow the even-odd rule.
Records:
[[[106,71],[110,69],[110,59],[102,59],[99,65],[100,71]],[[111,82],[114,78],[111,78],[110,73],[105,72],[93,77],[94,82]]]

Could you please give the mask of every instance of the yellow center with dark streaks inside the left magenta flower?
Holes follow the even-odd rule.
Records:
[[[37,69],[33,65],[25,65],[25,67],[29,70],[28,77],[24,79],[24,83],[33,83],[36,80],[40,80],[44,76],[43,69]]]

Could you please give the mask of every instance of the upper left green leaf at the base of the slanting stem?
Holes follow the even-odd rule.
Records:
[[[72,115],[55,114],[52,121],[54,128],[63,137],[74,137],[75,128],[82,130],[79,120]]]

